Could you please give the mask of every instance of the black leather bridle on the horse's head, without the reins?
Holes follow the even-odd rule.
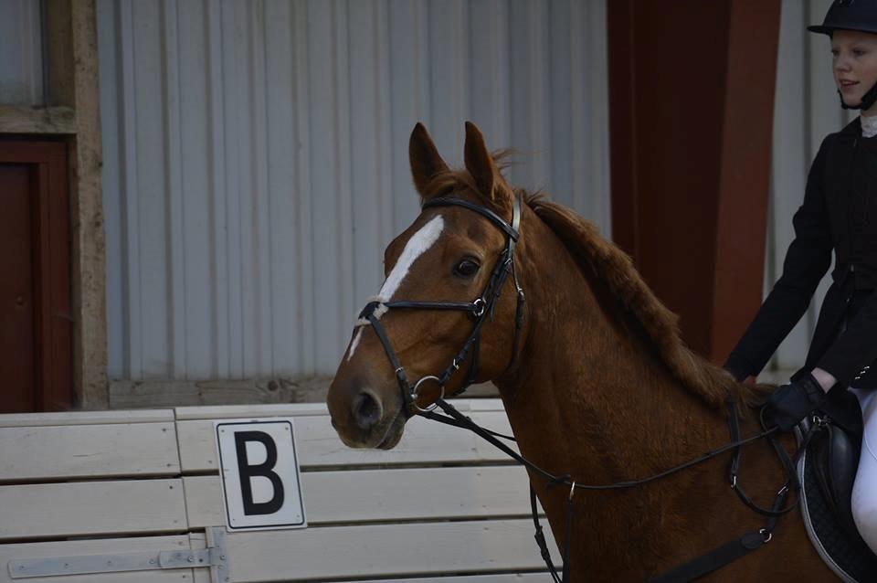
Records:
[[[496,303],[500,299],[500,295],[502,293],[502,286],[505,281],[509,278],[509,275],[512,275],[512,280],[514,281],[515,292],[517,295],[517,308],[515,310],[515,318],[514,318],[514,342],[512,344],[512,359],[507,366],[507,369],[514,365],[514,362],[517,358],[518,347],[520,344],[520,336],[521,329],[523,327],[523,303],[524,303],[524,295],[523,290],[521,289],[521,285],[518,282],[517,273],[514,270],[514,247],[518,241],[519,237],[519,227],[521,225],[521,201],[518,196],[513,196],[513,204],[512,204],[512,223],[507,223],[505,220],[494,213],[490,208],[481,207],[481,205],[476,205],[475,203],[471,203],[468,200],[464,200],[462,198],[450,198],[450,197],[439,197],[433,198],[432,200],[428,200],[424,203],[422,210],[426,210],[428,208],[433,207],[464,207],[468,208],[471,211],[474,211],[480,214],[482,217],[486,217],[491,223],[499,228],[503,234],[505,234],[505,248],[502,249],[500,256],[497,258],[496,263],[493,265],[493,270],[491,272],[491,278],[487,281],[487,284],[484,286],[484,290],[481,292],[475,300],[472,302],[413,302],[409,300],[395,300],[393,302],[368,302],[365,304],[365,308],[359,314],[359,319],[357,321],[357,325],[371,325],[375,330],[375,334],[377,334],[378,339],[381,341],[381,345],[384,346],[384,352],[386,353],[387,358],[390,361],[390,365],[393,366],[393,372],[396,375],[396,382],[398,383],[399,390],[402,392],[402,400],[403,400],[403,409],[405,411],[406,417],[409,418],[417,413],[426,413],[432,411],[439,405],[439,401],[441,401],[445,397],[445,385],[450,380],[450,377],[454,375],[458,370],[460,370],[460,366],[466,361],[467,356],[470,351],[472,352],[471,363],[469,366],[469,372],[466,374],[466,380],[464,381],[462,387],[457,390],[455,394],[458,394],[469,387],[475,379],[478,377],[479,373],[479,347],[481,344],[481,327],[487,320],[493,319],[493,313],[496,309]],[[405,368],[399,362],[399,358],[396,355],[396,350],[393,349],[393,345],[390,342],[390,339],[386,335],[386,331],[384,327],[380,323],[380,315],[385,313],[386,310],[391,309],[406,309],[406,310],[453,310],[458,312],[468,312],[475,319],[474,326],[472,327],[472,331],[469,334],[469,338],[463,343],[460,351],[453,357],[449,366],[445,368],[444,371],[439,373],[438,375],[428,375],[423,376],[413,385],[408,381],[407,375],[405,374]],[[439,398],[434,402],[431,406],[427,408],[421,408],[417,404],[417,398],[419,397],[420,386],[427,382],[435,382],[439,385],[441,390],[441,394]]]

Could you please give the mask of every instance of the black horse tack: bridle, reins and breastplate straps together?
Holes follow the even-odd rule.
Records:
[[[523,466],[525,466],[531,472],[541,475],[545,480],[547,480],[549,488],[559,485],[569,486],[569,496],[566,503],[565,517],[563,575],[557,574],[557,570],[552,563],[551,555],[548,551],[548,546],[545,541],[543,528],[542,525],[540,525],[539,523],[538,508],[536,506],[536,496],[533,490],[533,485],[531,484],[530,486],[530,504],[533,514],[534,527],[536,531],[534,537],[536,540],[536,544],[539,546],[540,553],[542,554],[542,557],[545,561],[545,565],[548,567],[549,573],[551,574],[555,583],[566,583],[569,578],[569,554],[573,521],[573,497],[576,491],[625,490],[629,488],[635,488],[645,483],[660,480],[661,478],[670,476],[671,474],[682,472],[682,470],[691,468],[692,466],[703,463],[704,461],[712,460],[713,458],[727,451],[734,451],[734,455],[728,470],[728,480],[730,482],[731,489],[734,490],[734,493],[737,494],[740,500],[743,501],[743,503],[747,507],[752,509],[755,513],[767,517],[766,525],[755,532],[745,533],[744,535],[734,538],[728,543],[716,547],[705,555],[701,557],[695,557],[691,561],[679,567],[675,567],[666,573],[663,573],[654,578],[650,578],[648,583],[682,583],[685,581],[692,581],[693,579],[700,578],[706,573],[709,573],[717,568],[724,567],[724,565],[727,565],[728,563],[731,563],[738,558],[744,557],[746,554],[757,550],[761,546],[764,546],[766,543],[768,543],[773,537],[773,531],[779,517],[787,514],[788,512],[791,512],[797,505],[795,503],[792,503],[787,505],[785,508],[783,507],[789,490],[794,489],[796,492],[798,492],[800,488],[800,484],[798,483],[798,476],[795,472],[795,462],[789,459],[786,451],[778,442],[775,435],[778,428],[773,427],[767,429],[763,416],[762,419],[760,419],[763,430],[753,436],[741,439],[740,424],[737,416],[736,404],[734,403],[733,398],[729,397],[727,400],[728,424],[731,433],[730,443],[715,450],[707,451],[702,455],[692,458],[692,460],[685,461],[677,466],[674,466],[662,472],[655,473],[648,477],[608,484],[579,483],[576,482],[568,474],[557,476],[555,474],[552,474],[551,472],[545,471],[543,468],[540,468],[532,461],[527,460],[520,453],[514,451],[511,447],[498,439],[502,438],[505,440],[514,440],[513,437],[505,436],[500,433],[496,433],[495,431],[491,431],[490,429],[482,428],[470,418],[460,413],[457,408],[454,408],[447,400],[445,400],[445,384],[449,381],[450,377],[454,375],[454,373],[460,370],[460,366],[466,361],[466,358],[468,357],[470,351],[472,351],[472,356],[469,371],[467,372],[465,381],[463,382],[460,389],[456,391],[455,395],[461,393],[467,387],[469,387],[478,376],[478,355],[481,341],[481,326],[488,319],[493,319],[496,302],[500,298],[502,286],[508,279],[508,276],[510,274],[512,275],[512,280],[514,281],[515,285],[515,292],[517,295],[517,307],[515,310],[515,330],[514,341],[512,345],[512,358],[509,365],[506,367],[506,370],[511,368],[517,359],[520,343],[520,334],[523,327],[524,304],[524,293],[518,282],[517,273],[514,270],[514,248],[515,243],[520,237],[519,228],[521,222],[521,202],[519,197],[513,197],[511,224],[507,223],[504,219],[502,219],[502,217],[499,217],[496,213],[491,211],[491,209],[481,207],[480,205],[476,205],[468,200],[463,200],[460,198],[435,198],[425,203],[422,208],[427,209],[431,207],[449,206],[468,208],[471,211],[480,214],[482,217],[486,217],[487,219],[489,219],[495,227],[502,230],[502,232],[505,234],[505,248],[502,250],[499,258],[496,260],[496,263],[494,264],[493,270],[491,272],[491,278],[484,287],[484,290],[481,292],[481,295],[472,302],[413,302],[406,300],[399,300],[395,302],[369,302],[365,305],[362,313],[359,314],[359,322],[357,323],[357,325],[371,325],[371,327],[374,328],[375,334],[377,334],[381,345],[384,346],[384,351],[390,361],[391,366],[393,366],[393,370],[396,375],[396,382],[402,393],[404,403],[403,407],[406,419],[412,417],[413,415],[420,415],[421,417],[439,421],[440,423],[445,423],[447,425],[459,427],[462,429],[469,429],[470,431],[479,435],[482,439],[487,440],[493,446],[503,451],[513,460],[523,464]],[[475,323],[469,337],[463,343],[462,348],[457,353],[457,355],[453,357],[450,365],[447,366],[444,371],[442,371],[438,375],[423,376],[419,380],[417,380],[416,383],[412,384],[408,381],[407,375],[405,374],[405,368],[399,362],[396,351],[394,350],[392,343],[390,342],[383,326],[380,323],[381,315],[389,309],[450,310],[468,312],[475,319]],[[422,384],[428,381],[437,383],[441,392],[439,398],[437,398],[431,406],[427,408],[421,408],[417,404],[419,389]],[[435,410],[436,408],[441,408],[445,415],[440,415],[439,413],[437,413]],[[799,452],[806,451],[807,441],[809,440],[809,436],[811,435],[811,433],[812,431],[808,433],[808,436],[805,438],[805,443],[798,450]],[[787,481],[777,492],[774,504],[772,504],[771,508],[769,509],[763,508],[758,504],[755,504],[752,499],[749,498],[748,495],[746,495],[746,493],[738,484],[737,480],[743,446],[761,439],[767,439],[770,441],[771,445],[774,448],[774,451],[777,453],[777,457],[783,465],[783,468],[787,472]]]

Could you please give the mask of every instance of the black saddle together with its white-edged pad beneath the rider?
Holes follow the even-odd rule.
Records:
[[[798,481],[807,535],[819,557],[847,583],[877,580],[877,557],[852,518],[861,434],[859,402],[846,390],[797,429],[798,444],[806,447],[798,459]]]

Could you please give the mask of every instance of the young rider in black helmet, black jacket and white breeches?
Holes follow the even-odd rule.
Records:
[[[737,380],[764,368],[807,311],[833,250],[833,282],[805,366],[771,395],[767,412],[792,429],[850,387],[864,421],[852,511],[877,553],[877,0],[835,0],[822,26],[808,30],[830,37],[840,106],[861,115],[819,147],[782,277],[724,367]]]

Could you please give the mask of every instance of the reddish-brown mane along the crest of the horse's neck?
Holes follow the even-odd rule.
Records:
[[[682,386],[713,407],[724,406],[728,395],[734,395],[741,408],[755,402],[755,393],[749,387],[735,382],[722,368],[695,355],[682,342],[678,316],[650,290],[629,255],[600,236],[597,226],[539,194],[524,199],[563,241],[579,267],[596,272],[622,312],[639,323],[643,340],[655,348]]]

